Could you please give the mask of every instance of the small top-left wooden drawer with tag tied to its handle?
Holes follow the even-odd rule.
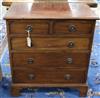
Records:
[[[45,20],[12,21],[10,23],[10,33],[13,34],[27,34],[28,28],[32,34],[47,34],[49,23]]]

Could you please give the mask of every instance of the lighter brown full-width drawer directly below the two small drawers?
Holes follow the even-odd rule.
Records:
[[[35,50],[35,49],[89,49],[89,38],[33,38],[32,47],[27,46],[25,37],[13,37],[11,39],[12,49],[14,50]]]

